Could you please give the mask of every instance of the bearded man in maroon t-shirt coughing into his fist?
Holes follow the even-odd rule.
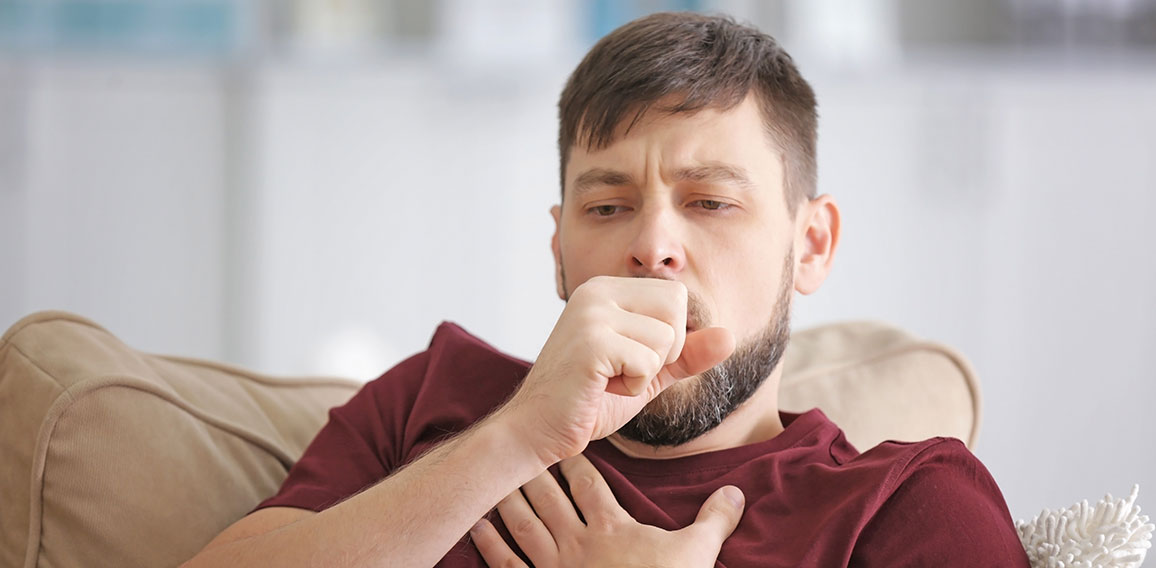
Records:
[[[860,455],[777,411],[792,293],[825,279],[839,211],[773,39],[642,19],[560,115],[566,307],[533,367],[444,324],[188,566],[1027,566],[958,441]]]

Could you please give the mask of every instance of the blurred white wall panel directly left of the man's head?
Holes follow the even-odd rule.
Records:
[[[377,341],[376,374],[442,319],[533,357],[561,311],[548,209],[563,79],[262,71],[250,361],[331,370],[328,338],[358,335]]]

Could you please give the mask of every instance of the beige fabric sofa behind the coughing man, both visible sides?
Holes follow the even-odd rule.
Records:
[[[787,410],[822,408],[859,448],[956,436],[979,391],[943,346],[872,323],[801,331]],[[28,316],[0,338],[0,566],[163,567],[276,490],[358,389],[138,352],[82,317]]]

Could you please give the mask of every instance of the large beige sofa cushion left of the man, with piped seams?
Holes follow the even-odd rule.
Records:
[[[25,317],[0,338],[0,566],[176,566],[273,494],[358,388]]]

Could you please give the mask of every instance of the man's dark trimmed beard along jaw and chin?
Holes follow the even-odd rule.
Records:
[[[791,289],[794,255],[783,266],[783,280],[771,320],[755,337],[740,345],[726,361],[662,391],[642,412],[618,429],[627,440],[654,448],[681,445],[722,423],[746,403],[783,359],[791,339]],[[705,307],[697,296],[688,297],[688,318],[705,324]],[[696,320],[696,316],[702,319]],[[701,326],[696,326],[701,329]]]

